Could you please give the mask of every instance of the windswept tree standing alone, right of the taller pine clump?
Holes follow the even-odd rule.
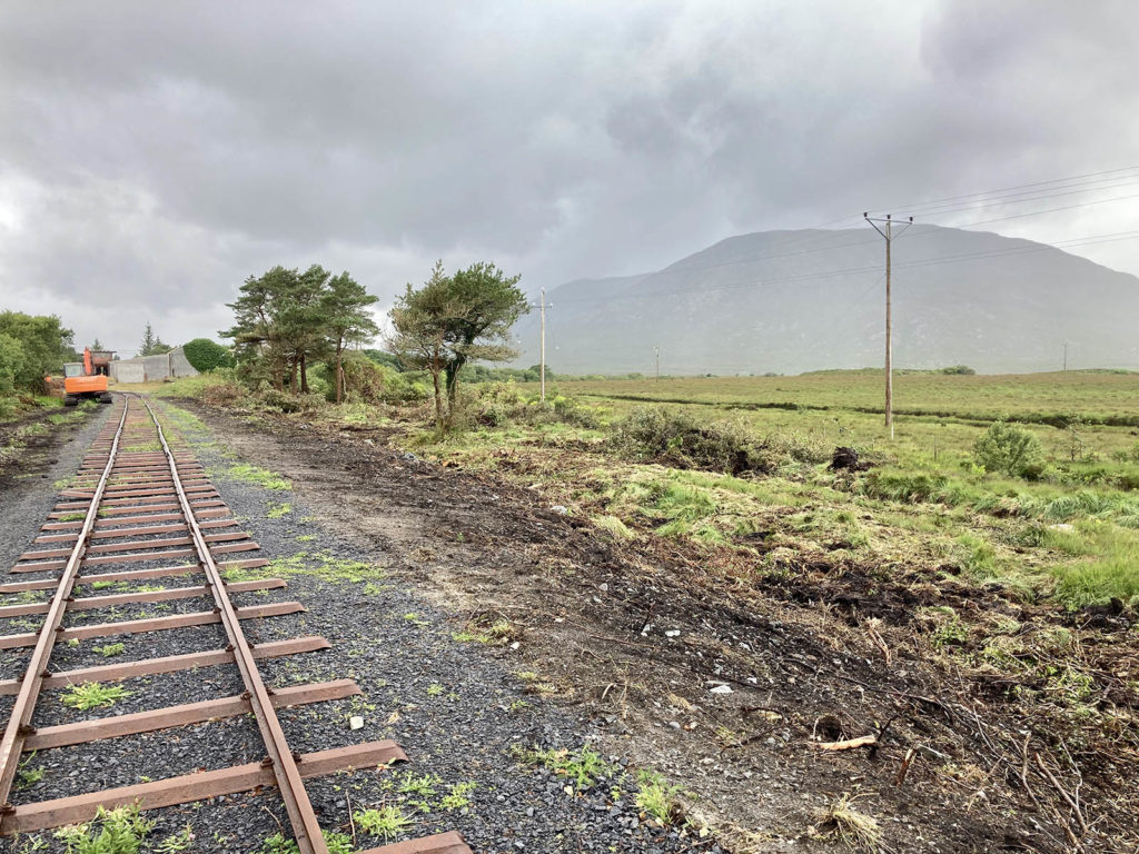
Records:
[[[510,328],[530,307],[518,289],[519,278],[485,262],[446,276],[439,261],[421,288],[408,285],[392,306],[388,347],[404,362],[431,373],[440,432],[453,424],[465,364],[501,362],[517,355],[509,346]]]

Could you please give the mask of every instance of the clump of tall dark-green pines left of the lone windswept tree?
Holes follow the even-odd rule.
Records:
[[[309,392],[309,368],[331,360],[336,402],[344,399],[344,353],[379,329],[368,307],[376,297],[347,272],[333,276],[319,264],[304,272],[274,266],[249,277],[237,302],[232,338],[246,376],[278,391]]]

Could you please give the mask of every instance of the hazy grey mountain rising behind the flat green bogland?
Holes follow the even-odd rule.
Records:
[[[869,228],[731,237],[644,276],[547,291],[565,373],[797,373],[879,367],[885,240]],[[915,224],[893,241],[894,366],[986,373],[1139,367],[1139,278],[1054,246]],[[534,311],[515,328],[538,362]]]

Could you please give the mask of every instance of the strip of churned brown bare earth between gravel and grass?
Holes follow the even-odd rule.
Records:
[[[1117,753],[1068,742],[1009,703],[1016,685],[929,660],[916,637],[952,630],[916,623],[921,605],[1031,616],[999,590],[825,563],[741,585],[706,550],[611,537],[538,490],[393,450],[383,430],[180,405],[382,550],[460,639],[590,714],[609,750],[663,772],[683,790],[677,808],[738,849],[1136,849],[1126,697],[1111,709]],[[543,463],[527,465],[540,481]],[[1099,654],[1126,660],[1126,619],[1100,616]],[[822,747],[860,737],[874,744]]]

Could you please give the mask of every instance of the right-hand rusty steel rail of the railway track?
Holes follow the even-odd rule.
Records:
[[[221,611],[222,625],[232,647],[233,658],[241,673],[241,680],[245,683],[246,691],[249,693],[249,705],[253,708],[254,718],[257,722],[257,728],[261,730],[261,738],[269,753],[267,762],[272,767],[273,777],[280,789],[281,799],[285,802],[285,808],[293,824],[293,836],[296,839],[297,847],[301,854],[328,854],[328,845],[325,844],[320,823],[317,821],[317,814],[312,808],[312,803],[309,800],[309,793],[304,788],[304,781],[301,778],[301,770],[297,767],[296,757],[285,739],[285,731],[277,718],[277,712],[273,708],[270,692],[261,679],[261,673],[257,671],[253,650],[249,648],[245,632],[241,630],[241,622],[229,599],[229,594],[226,592],[226,583],[218,570],[213,556],[210,553],[210,545],[206,542],[205,535],[202,533],[202,528],[194,516],[190,500],[182,487],[174,453],[166,443],[166,435],[162,429],[162,424],[159,424],[158,417],[150,408],[150,404],[146,400],[140,400],[150,413],[150,418],[154,419],[155,427],[158,430],[158,441],[162,443],[163,452],[166,454],[166,462],[170,466],[170,474],[173,479],[174,490],[178,493],[178,501],[181,504],[182,512],[186,515],[186,524],[189,526],[194,539],[194,547],[198,553],[198,564],[206,574],[206,584],[213,591],[214,601]]]

